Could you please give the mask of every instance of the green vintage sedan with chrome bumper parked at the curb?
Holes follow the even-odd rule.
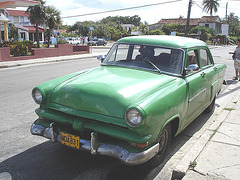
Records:
[[[226,69],[204,42],[176,36],[123,38],[101,61],[33,89],[31,133],[128,165],[160,163],[171,138],[214,109]]]

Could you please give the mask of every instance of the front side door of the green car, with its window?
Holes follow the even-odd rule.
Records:
[[[187,83],[187,117],[186,123],[195,119],[205,108],[207,98],[207,75],[204,69],[200,66],[199,49],[190,49],[187,53],[186,68],[189,65],[195,64],[198,68],[186,75]]]

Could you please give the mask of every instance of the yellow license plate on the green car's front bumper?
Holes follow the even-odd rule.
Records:
[[[80,137],[68,133],[61,133],[61,143],[76,149],[80,148]]]

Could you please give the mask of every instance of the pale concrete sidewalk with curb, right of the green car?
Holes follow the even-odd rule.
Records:
[[[240,82],[217,98],[214,121],[174,168],[172,179],[240,179]]]

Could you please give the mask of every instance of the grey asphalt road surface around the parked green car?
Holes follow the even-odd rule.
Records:
[[[227,83],[234,83],[234,47],[212,48],[216,63],[225,63]],[[97,51],[97,50],[93,50]],[[97,51],[99,54],[106,50]],[[208,127],[212,114],[200,115],[176,137],[166,160],[155,169],[128,167],[119,161],[53,144],[29,132],[38,107],[31,97],[33,87],[83,69],[99,66],[95,58],[0,69],[0,179],[169,179],[172,168]],[[224,86],[225,87],[225,86]],[[224,88],[223,88],[224,90]],[[223,91],[224,92],[224,91]]]

